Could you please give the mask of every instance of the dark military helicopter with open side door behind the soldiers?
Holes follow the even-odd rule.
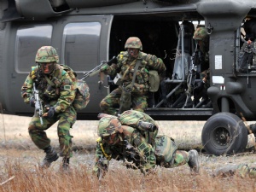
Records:
[[[143,52],[166,64],[166,79],[151,96],[146,113],[154,119],[207,120],[202,143],[209,154],[241,152],[250,130],[243,120],[256,119],[256,70],[240,73],[238,55],[244,20],[256,17],[253,0],[3,0],[0,3],[0,103],[4,113],[31,115],[20,87],[36,63],[39,47],[55,47],[60,63],[82,79],[102,61],[124,50],[125,40],[138,37]],[[209,34],[211,108],[189,105],[193,32]],[[200,67],[198,67],[200,68]],[[96,119],[99,103],[115,87],[113,77],[98,84],[85,79],[90,102],[79,119]],[[195,78],[195,82],[200,79]],[[188,96],[189,95],[189,96]],[[153,99],[152,99],[153,98]],[[187,101],[187,102],[186,102]]]

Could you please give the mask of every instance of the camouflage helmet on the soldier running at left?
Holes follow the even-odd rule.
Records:
[[[43,46],[38,49],[36,62],[59,62],[59,55],[52,46]]]

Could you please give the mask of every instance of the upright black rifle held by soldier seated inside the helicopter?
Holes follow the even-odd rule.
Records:
[[[199,52],[199,49],[197,49],[197,44],[196,44],[195,52],[191,56],[191,63],[190,63],[189,74],[188,74],[188,79],[187,79],[187,86],[188,86],[188,90],[186,91],[187,98],[186,98],[185,104],[183,105],[183,108],[187,107],[189,98],[195,88],[196,69],[199,64],[199,53],[198,52]]]

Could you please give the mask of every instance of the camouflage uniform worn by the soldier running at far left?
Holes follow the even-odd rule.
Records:
[[[38,49],[37,58],[44,55],[52,47],[45,46]],[[48,54],[48,53],[47,53]],[[44,58],[42,59],[44,61]],[[46,60],[48,61],[48,60]],[[58,61],[53,59],[53,61]],[[40,149],[49,148],[50,140],[46,136],[45,130],[54,125],[59,120],[57,131],[61,148],[61,156],[65,158],[72,157],[72,136],[69,133],[70,128],[76,121],[77,113],[73,108],[73,100],[75,97],[75,84],[67,72],[58,64],[53,64],[53,71],[47,74],[48,79],[55,85],[49,84],[46,76],[40,67],[32,67],[32,72],[28,74],[24,84],[21,87],[21,96],[24,102],[29,103],[33,97],[33,83],[36,84],[39,97],[43,102],[44,113],[49,107],[55,108],[52,118],[43,117],[44,125],[40,124],[38,113],[35,113],[29,123],[28,131],[32,138],[32,142]]]

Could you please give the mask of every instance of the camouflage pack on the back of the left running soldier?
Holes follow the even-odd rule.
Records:
[[[77,79],[77,74],[73,71],[71,67],[61,65],[63,69],[68,73],[69,77],[75,82],[76,84],[76,96],[73,100],[73,107],[76,110],[84,109],[88,102],[90,101],[90,89],[86,82],[81,79]]]

